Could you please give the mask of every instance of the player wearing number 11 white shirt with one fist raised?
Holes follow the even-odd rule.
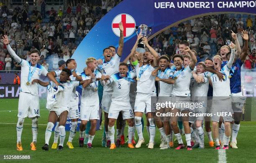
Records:
[[[220,116],[218,113],[224,112],[227,115],[223,115],[223,121],[225,125],[225,142],[223,149],[229,149],[228,143],[230,140],[230,122],[233,121],[232,116],[229,114],[232,113],[232,105],[230,98],[230,79],[228,76],[230,75],[229,71],[231,69],[232,63],[235,58],[235,45],[231,42],[231,55],[228,63],[222,68],[222,58],[219,55],[215,55],[214,60],[214,68],[215,70],[221,72],[223,74],[223,81],[218,80],[216,74],[213,73],[205,73],[212,80],[213,87],[213,98],[212,98],[212,128],[213,128],[213,138],[215,140],[216,150],[220,149],[220,142],[218,138],[218,123],[220,120]]]

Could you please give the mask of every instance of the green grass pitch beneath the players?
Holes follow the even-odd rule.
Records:
[[[38,138],[37,150],[30,150],[32,140],[31,120],[26,118],[22,133],[23,151],[16,150],[16,123],[18,113],[18,99],[0,99],[0,162],[20,162],[21,160],[3,160],[3,155],[30,155],[31,160],[22,160],[22,162],[44,162],[44,163],[64,163],[64,162],[180,162],[180,163],[217,163],[218,151],[208,147],[208,139],[205,136],[205,149],[187,150],[160,150],[160,133],[156,130],[156,145],[153,150],[147,149],[146,144],[139,149],[130,149],[126,145],[121,148],[110,150],[101,147],[102,130],[96,132],[93,140],[93,148],[79,148],[78,138],[79,132],[73,140],[74,149],[68,149],[64,146],[64,150],[57,151],[49,149],[49,151],[41,150],[44,145],[44,133],[46,129],[48,111],[45,109],[45,100],[40,100],[41,118],[38,120]],[[256,102],[253,101],[252,108],[255,109]],[[12,111],[8,111],[12,110]],[[127,133],[127,127],[125,130]],[[226,151],[227,162],[234,163],[253,163],[256,161],[256,122],[241,122],[238,133],[238,149]],[[127,135],[127,134],[126,134]],[[148,143],[148,134],[144,129],[144,138]],[[66,133],[64,145],[67,143],[69,132]],[[50,147],[53,143],[54,133],[51,135]],[[184,137],[183,137],[183,141]],[[177,146],[177,142],[174,143]]]

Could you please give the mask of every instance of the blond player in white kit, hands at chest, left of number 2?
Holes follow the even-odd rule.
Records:
[[[87,58],[86,60],[87,69],[92,71],[90,76],[85,75],[83,72],[82,79],[88,80],[89,82],[83,84],[82,90],[82,99],[80,106],[80,119],[81,124],[80,128],[80,138],[79,138],[79,146],[84,146],[84,132],[85,126],[87,122],[90,120],[91,128],[89,131],[89,140],[87,142],[87,148],[92,148],[92,140],[94,138],[96,132],[97,120],[99,118],[99,95],[98,95],[98,81],[101,78],[101,73],[98,70],[95,70],[97,62],[93,57]]]

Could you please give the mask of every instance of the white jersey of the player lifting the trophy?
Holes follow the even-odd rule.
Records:
[[[137,78],[139,78],[140,70],[145,69],[147,65],[142,65],[139,67],[139,64],[135,66]],[[137,93],[156,93],[156,85],[155,85],[155,76],[152,76],[151,73],[155,68],[151,65],[141,74],[139,80],[137,80]]]

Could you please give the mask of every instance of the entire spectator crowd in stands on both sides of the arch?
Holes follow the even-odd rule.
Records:
[[[40,63],[47,70],[56,70],[58,61],[71,58],[92,27],[120,0],[69,2],[67,10],[60,6],[58,10],[51,8],[49,11],[46,11],[44,0],[40,2],[41,11],[38,7],[28,10],[27,3],[23,8],[8,8],[0,3],[0,37],[8,35],[13,50],[26,60],[29,60],[31,50],[40,50]],[[252,69],[256,67],[255,20],[256,17],[248,14],[220,14],[194,18],[157,35],[151,39],[151,45],[159,55],[167,54],[171,57],[179,53],[179,43],[188,40],[191,49],[196,50],[204,60],[218,53],[227,40],[232,40],[231,30],[237,33],[239,43],[243,46],[241,31],[246,29],[249,34],[250,54],[244,67]],[[0,70],[20,70],[20,66],[8,55],[3,43],[0,43]]]

